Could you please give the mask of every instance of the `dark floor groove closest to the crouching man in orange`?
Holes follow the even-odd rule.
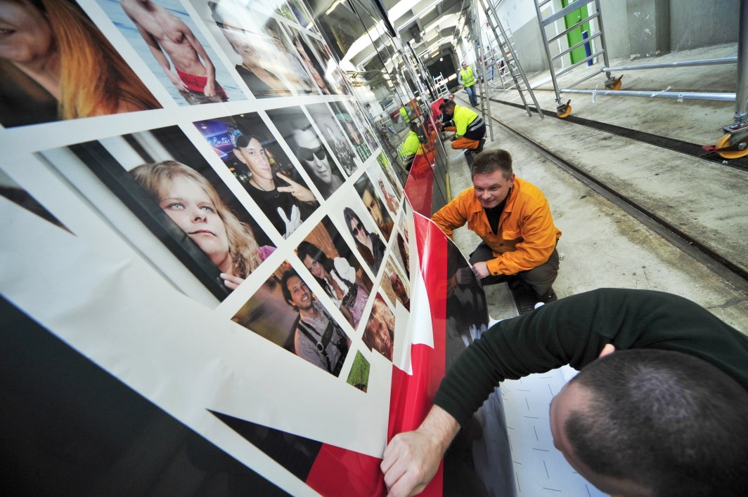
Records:
[[[493,102],[494,99],[491,99],[491,101]],[[499,103],[509,104],[509,102]],[[518,105],[518,107],[524,109],[524,105]],[[546,114],[548,115],[556,115],[554,113],[549,113],[548,111],[544,112],[546,112]],[[616,206],[623,209],[632,217],[636,218],[638,221],[640,221],[640,223],[643,223],[644,225],[652,229],[658,235],[662,236],[667,241],[675,245],[675,247],[678,247],[678,249],[682,250],[684,253],[687,253],[702,265],[705,265],[710,271],[714,272],[714,274],[717,274],[719,277],[723,278],[723,280],[726,280],[738,290],[748,293],[748,271],[745,271],[738,265],[735,265],[729,260],[724,259],[723,256],[712,250],[707,245],[702,244],[695,238],[690,237],[690,235],[688,235],[686,232],[681,231],[678,226],[669,223],[667,220],[658,216],[656,213],[650,211],[649,209],[646,209],[646,207],[641,206],[634,200],[631,200],[630,198],[619,193],[613,188],[610,188],[610,186],[606,185],[604,182],[601,182],[594,176],[586,173],[586,171],[574,166],[574,164],[565,161],[563,158],[560,158],[558,155],[554,154],[554,152],[545,149],[535,141],[530,140],[530,138],[527,138],[521,133],[515,131],[515,129],[506,126],[506,124],[502,123],[500,120],[497,120],[495,117],[491,116],[491,119],[494,120],[494,123],[497,123],[510,135],[526,143],[528,146],[530,146],[530,148],[534,149],[540,155],[556,164],[557,167],[565,170],[567,173],[571,174],[571,176],[574,176],[574,178],[578,179],[584,185],[592,188],[592,190],[594,190],[598,194],[601,194],[601,196],[605,197],[607,200],[610,200],[610,202],[614,203]],[[565,118],[565,120],[568,120],[568,117]]]

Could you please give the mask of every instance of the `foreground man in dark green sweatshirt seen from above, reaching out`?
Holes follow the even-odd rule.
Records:
[[[603,288],[483,333],[459,357],[420,427],[394,436],[390,497],[426,487],[494,386],[570,364],[551,402],[554,445],[604,493],[748,493],[748,337],[689,300]]]

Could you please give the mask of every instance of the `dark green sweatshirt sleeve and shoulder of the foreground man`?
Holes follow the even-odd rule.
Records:
[[[581,369],[607,343],[698,356],[748,389],[748,337],[738,330],[677,295],[601,288],[495,324],[447,372],[434,404],[464,426],[500,381]]]

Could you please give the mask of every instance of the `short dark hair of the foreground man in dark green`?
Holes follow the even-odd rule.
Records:
[[[592,471],[655,497],[746,494],[748,392],[716,366],[675,351],[619,351],[571,381],[591,401],[564,430]]]

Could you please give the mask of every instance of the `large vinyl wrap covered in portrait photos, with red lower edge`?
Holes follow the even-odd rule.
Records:
[[[343,70],[351,40],[304,1],[11,10],[49,46],[72,37],[52,56],[88,72],[44,86],[0,46],[7,495],[385,496],[387,442],[488,327],[429,220],[426,105],[407,175]],[[484,483],[496,451],[476,433],[506,433],[491,409],[423,495],[509,495]]]

